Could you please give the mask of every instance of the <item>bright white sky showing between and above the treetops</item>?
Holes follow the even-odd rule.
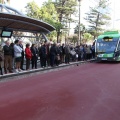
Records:
[[[33,0],[11,0],[10,6],[17,9],[18,11],[24,10],[24,7],[27,5],[28,2],[32,2]],[[43,2],[47,0],[34,0],[39,6],[42,6]],[[120,27],[120,0],[110,0],[111,1],[111,28],[119,28]],[[85,13],[89,11],[89,6],[93,6],[94,0],[81,0],[81,12],[80,18],[81,23],[86,24],[85,20]],[[79,14],[76,15],[76,20],[79,19]],[[75,24],[74,24],[75,25]],[[120,29],[120,28],[119,28]]]

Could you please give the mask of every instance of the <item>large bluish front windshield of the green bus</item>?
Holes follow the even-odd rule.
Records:
[[[117,45],[117,41],[101,41],[96,43],[96,52],[110,53],[114,52]]]

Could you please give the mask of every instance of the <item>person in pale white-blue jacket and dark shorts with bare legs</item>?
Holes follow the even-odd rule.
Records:
[[[15,72],[21,72],[20,69],[21,60],[22,60],[22,48],[19,46],[19,40],[15,40],[14,45],[14,57],[15,57]]]

